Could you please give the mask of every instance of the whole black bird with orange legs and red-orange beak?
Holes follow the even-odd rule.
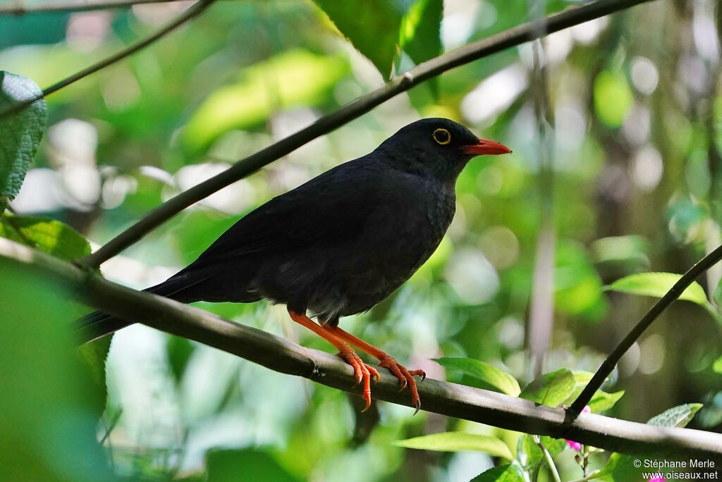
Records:
[[[244,216],[197,260],[145,291],[191,303],[269,299],[339,350],[370,406],[375,368],[391,370],[420,407],[414,375],[393,357],[339,328],[339,318],[388,297],[429,258],[451,224],[456,178],[472,157],[507,154],[443,118],[401,128],[373,152],[334,167]],[[318,318],[311,320],[306,312]],[[80,320],[83,341],[130,322],[101,312]]]

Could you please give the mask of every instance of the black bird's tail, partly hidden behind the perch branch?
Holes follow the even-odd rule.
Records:
[[[144,289],[144,292],[158,294],[162,297],[175,299],[183,303],[192,303],[199,301],[194,299],[189,288],[203,281],[200,279],[188,279],[189,276],[183,272],[178,273],[175,276],[171,276],[168,280],[163,281],[161,284],[151,286],[150,288]],[[80,343],[87,343],[89,341],[97,340],[97,338],[103,338],[103,336],[110,335],[121,328],[132,325],[133,321],[126,321],[113,315],[107,315],[100,311],[90,313],[77,320],[77,332],[79,335]]]

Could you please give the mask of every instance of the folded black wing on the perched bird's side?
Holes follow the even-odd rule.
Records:
[[[355,161],[324,172],[239,219],[191,266],[351,239],[374,205],[378,174]]]

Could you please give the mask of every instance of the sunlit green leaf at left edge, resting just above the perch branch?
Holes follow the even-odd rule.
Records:
[[[75,229],[44,216],[0,217],[0,236],[34,247],[64,260],[76,260],[90,254],[90,244]]]

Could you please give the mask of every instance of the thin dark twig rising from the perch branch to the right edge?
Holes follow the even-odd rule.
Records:
[[[704,273],[709,268],[716,265],[716,263],[718,263],[718,261],[721,259],[722,246],[718,247],[712,253],[706,255],[704,258],[699,260],[697,264],[695,264],[695,266],[692,266],[692,268],[690,268],[687,273],[684,273],[682,278],[680,278],[679,281],[677,281],[677,283],[675,283],[674,286],[669,289],[669,292],[666,292],[664,294],[664,297],[661,297],[649,309],[649,311],[645,313],[642,319],[639,320],[639,323],[637,323],[637,325],[632,328],[630,333],[625,336],[625,339],[622,340],[619,345],[617,345],[617,348],[615,348],[614,351],[612,351],[612,353],[606,357],[604,362],[601,364],[601,367],[599,367],[592,379],[589,380],[587,386],[584,387],[582,393],[579,394],[577,399],[574,400],[574,403],[572,403],[572,405],[569,407],[569,409],[567,410],[567,424],[571,424],[577,419],[583,408],[588,405],[589,400],[591,400],[591,398],[594,396],[594,393],[596,393],[596,390],[599,390],[601,385],[604,383],[604,380],[609,377],[609,374],[612,373],[614,367],[617,366],[617,363],[619,363],[619,359],[621,359],[622,356],[627,353],[627,350],[630,349],[630,346],[632,346],[635,341],[637,341],[639,337],[642,336],[642,333],[644,333],[644,331],[649,328],[649,325],[651,325],[653,321],[657,319],[661,312],[663,312],[666,307],[671,304],[671,302],[679,298],[679,296],[684,293],[684,290],[687,289],[687,286],[690,286],[690,284],[692,284],[692,281],[695,281],[697,276],[700,276],[700,274]]]

